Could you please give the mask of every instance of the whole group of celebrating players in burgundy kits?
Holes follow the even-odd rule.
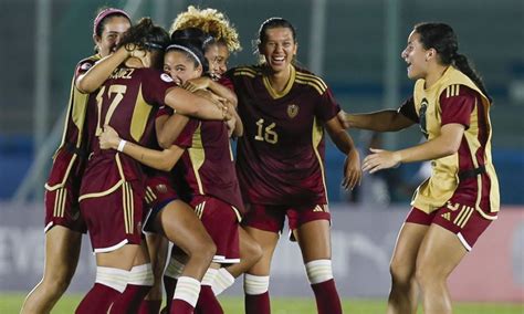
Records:
[[[285,218],[318,313],[342,313],[324,132],[347,156],[346,188],[359,184],[363,170],[437,160],[399,236],[388,308],[411,313],[420,292],[427,313],[447,313],[446,284],[437,285],[499,209],[491,100],[458,55],[446,59],[457,54],[458,44],[446,50],[453,36],[446,24],[416,25],[402,52],[408,76],[418,78],[413,96],[398,111],[355,115],[340,111],[322,78],[295,64],[295,29],[285,19],[261,24],[260,63],[228,71],[230,53],[240,50],[238,33],[214,9],[189,7],[169,32],[149,18],[133,23],[123,10],[99,11],[96,54],[75,69],[45,184],[44,276],[22,313],[51,311],[74,274],[86,231],[96,280],[76,313],[159,313],[163,283],[161,313],[223,313],[217,295],[241,274],[245,313],[271,313],[271,259]],[[427,143],[374,149],[361,165],[346,132],[416,123]]]

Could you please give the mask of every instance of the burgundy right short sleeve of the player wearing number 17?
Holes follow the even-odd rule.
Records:
[[[142,80],[142,94],[144,100],[151,105],[164,106],[167,90],[176,87],[171,76],[154,69],[144,69]]]

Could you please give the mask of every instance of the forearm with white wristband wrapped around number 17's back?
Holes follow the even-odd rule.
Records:
[[[156,150],[122,139],[111,126],[104,126],[99,136],[102,149],[116,149],[133,159],[158,170],[169,171],[184,154],[184,148],[171,145],[168,149]]]

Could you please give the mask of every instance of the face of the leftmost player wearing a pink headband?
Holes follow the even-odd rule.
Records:
[[[108,17],[104,21],[102,35],[93,35],[96,49],[102,56],[109,55],[118,45],[122,35],[130,28],[129,20],[125,17]]]

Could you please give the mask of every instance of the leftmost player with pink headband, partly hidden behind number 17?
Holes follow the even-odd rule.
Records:
[[[112,53],[130,27],[129,15],[118,9],[98,12],[93,23],[95,55],[75,70],[62,143],[45,184],[45,264],[42,281],[30,292],[21,313],[49,313],[67,289],[78,262],[85,223],[80,217],[78,189],[88,155],[83,135],[87,103],[93,101],[74,85],[97,60]]]

